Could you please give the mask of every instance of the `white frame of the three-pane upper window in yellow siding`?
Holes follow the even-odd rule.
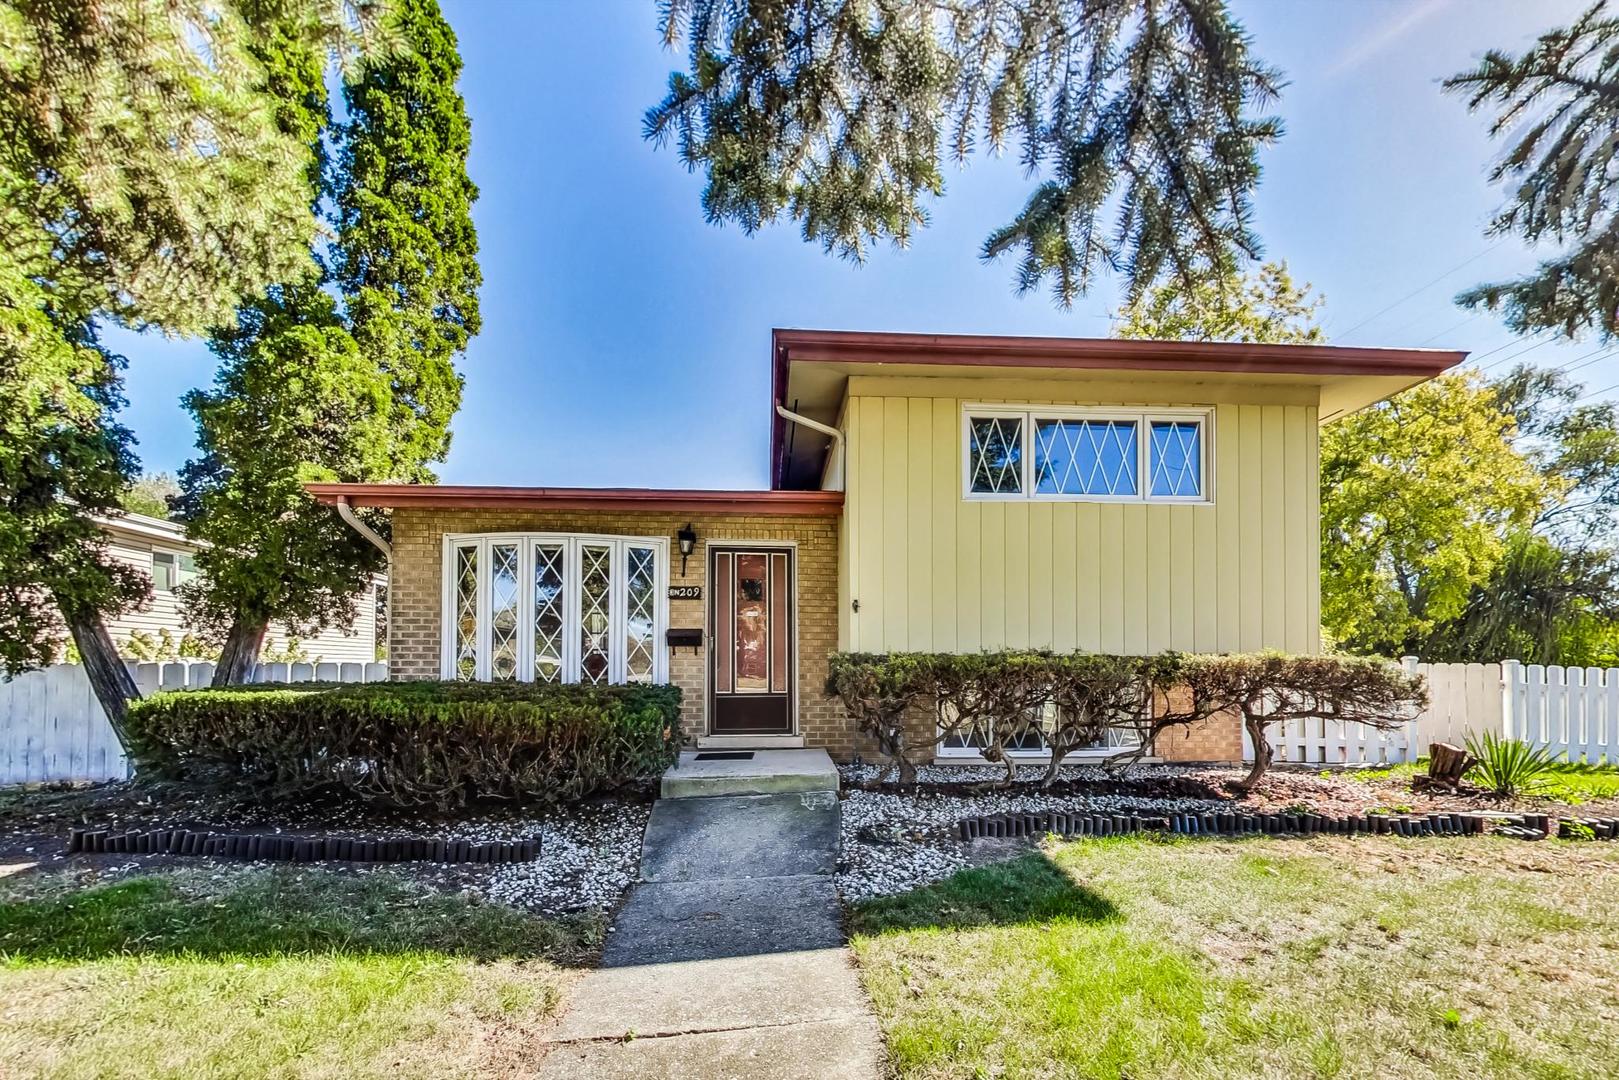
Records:
[[[973,491],[973,421],[1020,419],[1023,432],[1020,492]],[[1085,495],[1035,491],[1035,429],[1043,419],[1090,419],[1135,423],[1135,494],[1133,495]],[[1196,495],[1153,495],[1153,421],[1200,424]],[[1171,504],[1208,507],[1214,504],[1214,410],[1211,408],[1115,408],[1073,405],[962,405],[962,499],[968,502],[1120,502],[1120,504]]]

